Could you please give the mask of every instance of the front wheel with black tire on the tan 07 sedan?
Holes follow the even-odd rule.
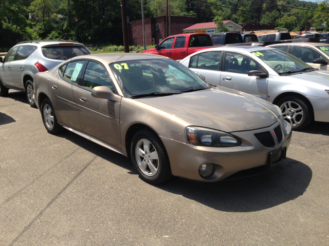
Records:
[[[144,181],[157,184],[172,177],[165,146],[153,131],[138,131],[133,137],[130,153],[134,168]]]

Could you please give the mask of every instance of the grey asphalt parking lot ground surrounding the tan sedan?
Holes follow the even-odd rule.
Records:
[[[23,92],[0,98],[0,245],[329,245],[329,124],[293,132],[270,172],[152,186],[130,159],[48,134]]]

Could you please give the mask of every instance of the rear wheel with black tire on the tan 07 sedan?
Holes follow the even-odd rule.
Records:
[[[47,131],[51,134],[56,134],[63,131],[63,128],[58,124],[55,111],[49,101],[44,99],[41,105],[42,122]]]

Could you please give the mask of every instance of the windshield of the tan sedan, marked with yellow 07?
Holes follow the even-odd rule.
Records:
[[[125,97],[211,88],[191,70],[170,59],[127,60],[109,66]]]

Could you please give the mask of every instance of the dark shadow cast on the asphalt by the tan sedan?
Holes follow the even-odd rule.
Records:
[[[107,150],[75,133],[58,135],[77,146],[136,174],[129,158]],[[137,176],[136,176],[137,178]],[[271,171],[244,179],[215,183],[195,182],[174,177],[156,185],[158,189],[182,195],[210,208],[226,212],[253,212],[278,206],[304,194],[312,170],[304,163],[287,158]]]

